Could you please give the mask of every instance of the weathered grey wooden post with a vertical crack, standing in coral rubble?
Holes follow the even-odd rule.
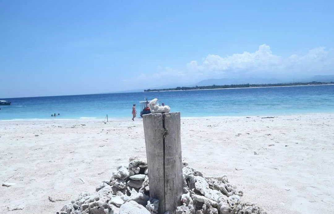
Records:
[[[143,115],[150,197],[174,214],[183,193],[180,113]]]

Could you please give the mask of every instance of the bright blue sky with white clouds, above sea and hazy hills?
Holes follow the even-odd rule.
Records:
[[[0,97],[334,74],[333,1],[0,1]]]

